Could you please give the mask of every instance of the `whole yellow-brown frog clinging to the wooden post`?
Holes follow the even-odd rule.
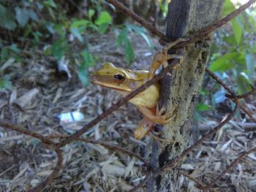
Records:
[[[105,63],[102,69],[91,74],[91,82],[106,88],[111,88],[116,92],[121,93],[121,95],[127,96],[127,94],[139,88],[140,85],[151,80],[161,64],[163,64],[164,67],[167,66],[168,59],[178,58],[181,61],[182,58],[180,56],[167,54],[167,50],[169,50],[170,47],[173,47],[181,41],[184,40],[178,39],[176,42],[164,47],[162,52],[156,53],[149,71],[132,71],[129,69],[118,68],[110,63]],[[173,109],[163,115],[165,107],[162,107],[160,111],[158,110],[158,99],[159,82],[156,82],[154,85],[151,85],[145,91],[129,100],[130,103],[135,104],[144,116],[143,120],[140,121],[135,129],[135,139],[143,139],[143,137],[151,131],[151,128],[154,127],[154,123],[165,124],[175,116],[173,115]]]

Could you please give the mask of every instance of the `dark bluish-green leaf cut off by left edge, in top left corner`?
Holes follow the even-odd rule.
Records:
[[[6,8],[0,4],[0,26],[8,30],[16,28],[15,14],[12,9]]]

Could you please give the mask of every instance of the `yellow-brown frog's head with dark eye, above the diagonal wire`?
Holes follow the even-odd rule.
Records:
[[[91,74],[91,82],[116,91],[133,91],[142,85],[147,77],[147,71],[132,72],[129,69],[105,63],[102,69]]]

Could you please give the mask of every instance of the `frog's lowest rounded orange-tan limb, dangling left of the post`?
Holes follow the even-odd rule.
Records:
[[[143,120],[140,121],[137,128],[135,129],[135,139],[143,139],[150,131],[151,128],[153,128],[154,123],[152,123],[151,120],[148,118],[143,118]]]

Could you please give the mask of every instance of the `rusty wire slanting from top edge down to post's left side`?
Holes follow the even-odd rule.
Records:
[[[106,0],[110,4],[113,4],[116,8],[120,9],[122,12],[124,12],[126,15],[128,15],[130,18],[136,20],[138,23],[140,23],[141,26],[148,29],[148,31],[151,31],[152,34],[157,35],[157,37],[160,37],[165,42],[170,42],[168,38],[163,34],[161,31],[159,31],[157,28],[152,26],[150,23],[148,23],[146,20],[143,20],[143,18],[140,18],[139,15],[137,15],[135,12],[132,12],[127,7],[125,7],[123,4],[119,3],[116,0]]]

